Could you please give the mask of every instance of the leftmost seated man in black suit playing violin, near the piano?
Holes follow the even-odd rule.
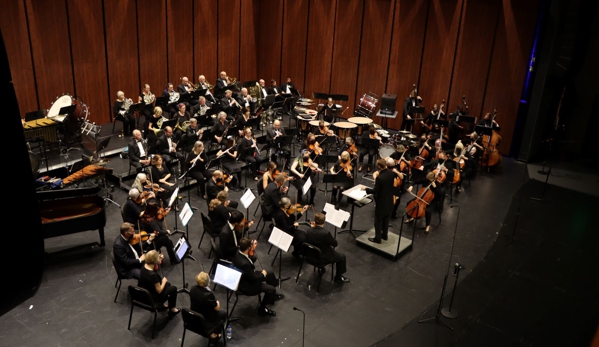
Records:
[[[116,271],[124,278],[135,278],[139,280],[141,266],[144,264],[145,255],[142,252],[140,243],[134,245],[129,243],[135,236],[133,224],[123,223],[121,225],[121,235],[114,239],[112,253],[116,261]],[[144,247],[149,247],[154,241],[154,234],[149,236]]]

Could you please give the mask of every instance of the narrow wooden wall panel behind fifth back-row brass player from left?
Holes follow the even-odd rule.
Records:
[[[194,71],[204,75],[209,83],[215,84],[218,78],[217,29],[218,6],[211,0],[194,3]]]

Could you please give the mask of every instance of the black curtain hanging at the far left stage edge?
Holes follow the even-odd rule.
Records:
[[[0,316],[37,291],[44,271],[44,237],[35,185],[17,96],[12,85],[4,38],[0,35],[0,83],[2,84],[2,132],[10,150],[2,168],[5,207],[2,230],[2,289]],[[7,189],[16,187],[16,190]],[[18,217],[17,217],[18,216]]]

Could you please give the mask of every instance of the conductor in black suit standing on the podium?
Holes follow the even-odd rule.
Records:
[[[395,173],[387,169],[385,159],[379,159],[376,162],[379,175],[374,182],[374,189],[362,187],[366,193],[373,194],[376,202],[374,209],[374,237],[369,237],[368,241],[381,243],[381,239],[387,240],[387,232],[389,230],[389,218],[393,213],[393,181]]]

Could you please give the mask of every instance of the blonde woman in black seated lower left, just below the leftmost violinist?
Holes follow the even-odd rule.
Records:
[[[168,300],[168,315],[172,317],[181,310],[177,306],[177,287],[171,285],[166,277],[160,276],[155,266],[162,261],[162,254],[152,250],[146,254],[146,263],[141,268],[138,286],[144,288],[154,302],[165,302]]]

